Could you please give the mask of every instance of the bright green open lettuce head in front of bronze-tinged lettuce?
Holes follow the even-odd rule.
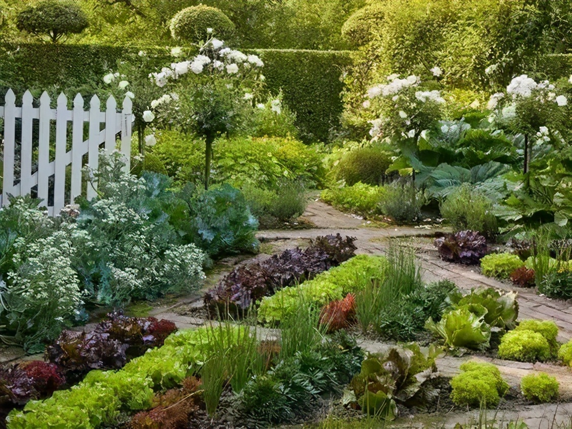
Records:
[[[491,338],[491,328],[484,321],[484,314],[484,308],[479,314],[475,313],[475,308],[459,307],[444,313],[439,322],[428,319],[425,328],[441,337],[447,347],[484,349],[488,347]]]

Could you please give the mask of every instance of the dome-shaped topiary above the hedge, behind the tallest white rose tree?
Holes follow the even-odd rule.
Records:
[[[177,42],[198,43],[205,40],[208,29],[216,37],[226,39],[232,35],[235,25],[216,7],[198,5],[181,10],[171,19],[170,30]]]

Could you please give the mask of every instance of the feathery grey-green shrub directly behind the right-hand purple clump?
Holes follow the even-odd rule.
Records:
[[[498,231],[492,202],[470,186],[460,186],[451,192],[440,205],[440,210],[455,232],[470,229],[485,237],[492,237]]]

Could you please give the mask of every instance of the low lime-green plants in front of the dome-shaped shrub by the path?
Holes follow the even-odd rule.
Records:
[[[371,186],[358,182],[353,186],[325,189],[320,198],[345,212],[362,216],[374,216],[381,212],[380,202],[386,195],[383,186]]]

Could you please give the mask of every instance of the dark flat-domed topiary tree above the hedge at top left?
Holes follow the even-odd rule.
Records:
[[[47,35],[57,43],[64,35],[81,33],[88,17],[72,0],[44,0],[18,13],[17,27],[37,36]]]

